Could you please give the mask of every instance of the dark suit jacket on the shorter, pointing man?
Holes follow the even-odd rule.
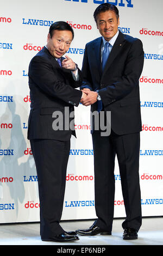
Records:
[[[54,111],[61,111],[64,121],[65,107],[69,107],[67,118],[74,111],[74,106],[79,105],[82,92],[75,89],[82,84],[82,72],[79,69],[78,74],[79,80],[74,81],[71,70],[61,68],[46,47],[30,61],[28,76],[31,110],[28,139],[70,139],[71,129],[53,130],[52,123],[58,116],[54,119],[52,114]],[[70,121],[73,121],[73,115]],[[73,135],[75,136],[75,132]]]

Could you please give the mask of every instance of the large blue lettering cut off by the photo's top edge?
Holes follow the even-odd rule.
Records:
[[[131,3],[131,2],[133,2],[132,0],[114,0],[114,1],[109,1],[109,0],[65,0],[65,1],[80,2],[80,3],[94,3],[94,4],[109,3],[109,4],[118,5],[121,7],[131,7],[131,8],[134,7],[134,5]]]

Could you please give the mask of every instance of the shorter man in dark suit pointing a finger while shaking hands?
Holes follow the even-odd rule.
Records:
[[[28,139],[32,148],[40,198],[40,234],[43,241],[76,241],[59,222],[64,202],[66,168],[70,153],[74,106],[86,96],[75,88],[82,84],[81,71],[66,56],[73,29],[59,21],[49,28],[47,45],[29,64],[31,110]],[[60,118],[59,118],[60,117]],[[57,125],[58,124],[58,125]],[[71,125],[70,125],[71,124]]]

